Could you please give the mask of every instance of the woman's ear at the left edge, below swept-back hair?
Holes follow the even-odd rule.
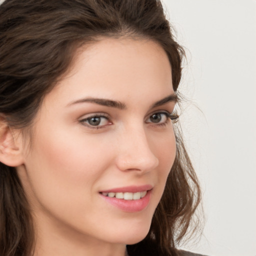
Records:
[[[0,116],[0,162],[13,167],[23,164],[21,145],[17,132]]]

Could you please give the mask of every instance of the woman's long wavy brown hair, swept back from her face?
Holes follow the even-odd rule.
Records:
[[[43,96],[70,66],[77,47],[99,37],[158,42],[168,55],[174,91],[182,47],[160,0],[5,0],[0,5],[0,114],[28,127]],[[147,236],[130,255],[178,255],[200,201],[198,180],[176,127],[176,157]],[[28,256],[33,245],[29,205],[15,168],[0,163],[0,255]]]

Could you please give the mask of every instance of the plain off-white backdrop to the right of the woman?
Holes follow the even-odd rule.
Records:
[[[256,256],[256,1],[163,3],[187,48],[182,127],[205,211],[200,241],[183,248]]]

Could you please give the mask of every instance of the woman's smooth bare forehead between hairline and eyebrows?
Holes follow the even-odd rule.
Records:
[[[48,96],[61,94],[63,101],[79,96],[123,101],[135,93],[157,100],[172,91],[169,60],[158,43],[104,38],[77,49],[69,71]]]

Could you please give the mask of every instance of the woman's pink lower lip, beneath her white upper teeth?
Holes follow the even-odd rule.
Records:
[[[108,197],[100,194],[108,203],[114,205],[115,207],[126,211],[126,212],[138,212],[146,208],[149,203],[151,190],[146,192],[146,195],[137,200],[125,200],[118,199],[115,197]]]

